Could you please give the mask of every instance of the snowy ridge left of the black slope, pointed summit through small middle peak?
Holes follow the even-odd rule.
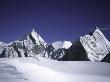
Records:
[[[31,33],[20,40],[9,44],[0,42],[0,58],[42,56],[58,60],[64,56],[64,49],[68,49],[71,45],[70,41],[59,41],[48,44],[33,29]]]

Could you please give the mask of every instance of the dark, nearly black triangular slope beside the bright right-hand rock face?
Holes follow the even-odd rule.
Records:
[[[72,46],[65,50],[63,61],[88,61],[87,53],[79,40],[73,42]]]

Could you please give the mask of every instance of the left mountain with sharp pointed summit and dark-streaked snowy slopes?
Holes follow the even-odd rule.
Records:
[[[23,40],[0,43],[0,57],[30,57],[43,52],[47,43],[33,29]]]

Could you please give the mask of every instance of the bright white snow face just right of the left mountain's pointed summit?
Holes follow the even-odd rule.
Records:
[[[44,45],[46,46],[46,42],[43,40],[43,38],[33,29],[32,32],[31,32],[31,39],[34,39],[36,45]]]

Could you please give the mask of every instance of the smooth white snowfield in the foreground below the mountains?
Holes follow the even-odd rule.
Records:
[[[110,64],[48,59],[0,59],[0,82],[110,82]]]

